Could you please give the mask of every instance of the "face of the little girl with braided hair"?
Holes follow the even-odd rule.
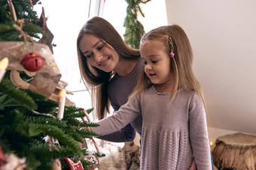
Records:
[[[164,51],[164,44],[147,40],[140,47],[145,63],[145,73],[159,92],[169,91],[172,78],[170,55]]]

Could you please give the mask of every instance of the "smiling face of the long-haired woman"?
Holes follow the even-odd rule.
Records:
[[[105,72],[114,70],[119,61],[114,48],[92,34],[85,34],[81,38],[79,48],[90,65]]]

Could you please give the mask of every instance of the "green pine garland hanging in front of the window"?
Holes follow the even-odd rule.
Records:
[[[126,0],[128,6],[126,8],[126,18],[124,19],[123,26],[126,28],[123,34],[126,44],[134,49],[139,49],[139,43],[143,34],[145,34],[144,27],[138,20],[138,12],[145,17],[139,4],[146,4],[151,0]]]

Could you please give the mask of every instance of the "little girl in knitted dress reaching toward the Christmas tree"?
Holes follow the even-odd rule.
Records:
[[[128,102],[99,121],[106,135],[142,115],[140,169],[212,169],[206,112],[192,71],[190,42],[178,25],[156,28],[141,40],[145,71]]]

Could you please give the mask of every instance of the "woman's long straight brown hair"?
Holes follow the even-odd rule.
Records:
[[[89,19],[79,31],[77,38],[78,50],[78,64],[82,79],[91,89],[91,97],[93,106],[96,106],[97,118],[105,118],[109,112],[109,98],[108,98],[108,82],[113,75],[113,71],[106,73],[96,67],[91,66],[84,57],[83,52],[79,47],[80,41],[85,34],[92,34],[98,37],[103,42],[113,47],[120,57],[126,59],[139,58],[140,53],[138,49],[132,49],[124,43],[123,38],[114,29],[114,27],[105,19],[98,16]],[[94,103],[94,98],[96,103]]]

